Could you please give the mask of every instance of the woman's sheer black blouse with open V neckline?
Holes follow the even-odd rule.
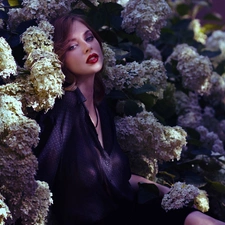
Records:
[[[77,88],[37,119],[40,142],[34,153],[36,179],[48,182],[60,225],[92,223],[133,202],[129,162],[120,149],[106,103],[98,106],[102,148]]]

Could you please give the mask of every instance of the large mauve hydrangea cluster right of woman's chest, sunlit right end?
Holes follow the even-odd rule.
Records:
[[[118,140],[125,152],[148,159],[170,161],[180,159],[186,144],[186,132],[179,126],[160,124],[151,112],[116,119]]]

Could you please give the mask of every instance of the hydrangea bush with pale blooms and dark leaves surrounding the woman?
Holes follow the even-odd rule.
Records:
[[[47,183],[34,178],[32,148],[36,113],[64,94],[50,21],[71,11],[87,15],[103,40],[107,100],[132,172],[171,186],[165,210],[190,205],[225,221],[225,32],[214,14],[201,23],[204,7],[206,0],[0,0],[0,224],[46,224],[54,204]]]

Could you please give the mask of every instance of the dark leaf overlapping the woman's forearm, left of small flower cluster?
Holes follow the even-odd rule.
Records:
[[[155,184],[139,183],[139,191],[137,196],[137,201],[139,204],[144,204],[158,197],[159,189]]]

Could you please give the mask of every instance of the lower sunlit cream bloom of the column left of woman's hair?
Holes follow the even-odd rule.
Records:
[[[55,99],[64,94],[62,84],[65,75],[61,70],[61,63],[55,53],[41,50],[33,51],[27,61],[32,67],[30,75],[24,81],[27,89],[24,98],[35,111],[48,111],[53,107]]]

